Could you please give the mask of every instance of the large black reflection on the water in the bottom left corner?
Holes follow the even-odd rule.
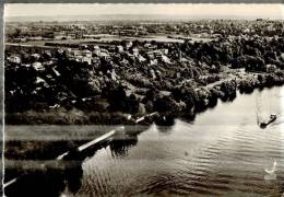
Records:
[[[82,162],[46,162],[45,164],[40,164],[40,167],[34,165],[33,170],[29,170],[29,172],[26,171],[13,185],[8,186],[4,193],[8,197],[56,197],[60,196],[66,188],[72,193],[76,193],[82,184]]]

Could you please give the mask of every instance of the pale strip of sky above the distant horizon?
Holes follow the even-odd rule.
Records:
[[[68,15],[204,15],[240,18],[284,19],[284,4],[154,4],[154,3],[13,3],[5,4],[5,18],[21,16],[68,16]]]

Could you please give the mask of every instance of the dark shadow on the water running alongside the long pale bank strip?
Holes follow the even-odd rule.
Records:
[[[130,128],[126,132],[118,134],[114,139],[97,143],[82,152],[78,152],[73,148],[69,150],[68,157],[64,157],[63,160],[40,160],[37,162],[32,160],[34,163],[29,165],[29,169],[10,169],[10,171],[21,172],[22,175],[17,177],[15,183],[4,188],[5,195],[8,197],[57,197],[66,192],[78,193],[82,185],[82,163],[86,158],[93,157],[97,150],[106,147],[110,148],[113,157],[126,157],[129,149],[138,144],[138,135],[146,130],[149,126],[130,126]]]

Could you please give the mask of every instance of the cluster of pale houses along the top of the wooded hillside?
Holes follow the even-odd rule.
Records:
[[[123,43],[123,44],[122,44]],[[99,65],[102,59],[106,61],[111,61],[116,56],[121,58],[121,63],[128,63],[129,60],[138,62],[146,62],[149,65],[156,65],[157,62],[171,63],[168,58],[168,48],[157,48],[156,44],[152,43],[140,43],[133,46],[131,40],[120,42],[118,44],[109,45],[80,45],[79,47],[58,47],[55,46],[55,49],[59,53],[66,53],[68,60],[86,62],[87,65]],[[45,61],[43,54],[48,56],[48,61]],[[31,63],[23,63],[21,55],[13,54],[8,55],[7,60],[12,63],[23,65],[23,66],[33,66],[35,70],[44,70],[46,65],[52,65],[56,61],[56,58],[52,57],[51,51],[46,51],[43,49],[43,54],[31,54],[29,59]]]

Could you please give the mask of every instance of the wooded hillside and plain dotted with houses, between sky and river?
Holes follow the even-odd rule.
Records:
[[[193,116],[217,99],[233,100],[237,90],[284,82],[282,21],[7,26],[12,124],[121,124],[129,114],[153,112]]]

